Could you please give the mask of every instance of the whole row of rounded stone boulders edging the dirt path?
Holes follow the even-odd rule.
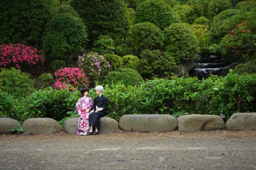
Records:
[[[22,134],[52,134],[63,128],[72,134],[77,131],[77,117],[67,119],[63,127],[52,118],[29,118],[23,122]],[[0,133],[10,133],[18,125],[17,120],[0,118]],[[111,133],[118,129],[131,132],[170,132],[201,130],[256,130],[256,113],[234,113],[226,122],[218,115],[183,115],[177,119],[164,114],[123,115],[119,123],[110,117],[100,118],[100,133]]]

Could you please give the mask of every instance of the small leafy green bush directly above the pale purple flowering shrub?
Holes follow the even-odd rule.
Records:
[[[98,54],[113,54],[115,44],[110,36],[100,35],[93,43],[92,50]]]

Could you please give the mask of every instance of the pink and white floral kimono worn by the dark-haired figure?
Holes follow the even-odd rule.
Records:
[[[80,116],[78,116],[78,124],[77,124],[77,132],[76,134],[79,135],[80,132],[88,132],[89,130],[89,112],[86,112],[88,108],[92,108],[93,101],[88,96],[80,98],[76,102],[76,112],[81,110]]]

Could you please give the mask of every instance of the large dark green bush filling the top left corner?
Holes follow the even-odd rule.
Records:
[[[0,44],[21,43],[41,50],[42,32],[57,12],[56,1],[3,0],[0,7]]]

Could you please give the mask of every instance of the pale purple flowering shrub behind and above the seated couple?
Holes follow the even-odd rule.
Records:
[[[110,72],[110,64],[98,53],[88,53],[78,57],[78,65],[90,79],[90,85],[94,81],[102,82],[104,76]]]

